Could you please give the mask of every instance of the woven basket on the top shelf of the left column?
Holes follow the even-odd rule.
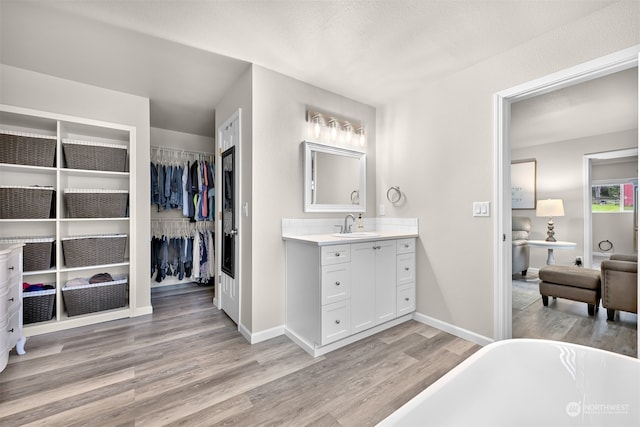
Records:
[[[0,163],[53,167],[56,137],[0,130]]]

